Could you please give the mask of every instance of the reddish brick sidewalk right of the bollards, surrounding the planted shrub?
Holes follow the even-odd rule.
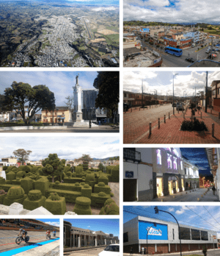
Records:
[[[176,112],[176,111],[175,111]],[[196,118],[199,121],[204,121],[208,127],[208,132],[188,132],[180,131],[180,126],[184,120],[190,120],[191,110],[187,110],[185,119],[183,113],[175,113],[169,118],[166,118],[166,124],[164,124],[164,116],[161,117],[160,129],[158,129],[158,121],[152,124],[152,134],[149,135],[149,124],[145,129],[142,129],[142,135],[140,135],[139,127],[136,128],[139,137],[129,141],[126,139],[124,143],[220,143],[220,124],[214,121],[210,114],[205,113],[202,110],[201,113],[196,113]],[[212,136],[212,124],[215,125],[214,137]],[[128,142],[129,141],[129,142]]]

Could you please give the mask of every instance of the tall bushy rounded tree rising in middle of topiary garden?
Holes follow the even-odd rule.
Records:
[[[51,175],[52,182],[54,182],[54,176],[62,176],[65,165],[62,160],[59,160],[57,154],[49,154],[42,162],[43,174]]]

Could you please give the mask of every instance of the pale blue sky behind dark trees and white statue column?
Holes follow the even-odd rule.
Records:
[[[0,93],[4,94],[5,88],[9,88],[13,81],[26,82],[29,85],[46,85],[54,94],[56,106],[65,106],[67,96],[73,96],[73,86],[76,85],[76,76],[79,73],[78,83],[83,89],[95,89],[94,79],[96,71],[1,71]]]

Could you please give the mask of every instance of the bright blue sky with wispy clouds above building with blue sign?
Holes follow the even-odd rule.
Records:
[[[163,221],[175,222],[175,219],[169,215],[177,218],[180,224],[185,224],[192,227],[200,227],[207,230],[215,230],[220,232],[220,207],[219,206],[158,206],[159,210],[165,210],[169,213],[162,213],[159,211],[155,213],[154,206],[124,206],[124,223],[135,218],[136,216],[145,216],[150,218],[157,218]],[[175,222],[176,223],[176,222]]]

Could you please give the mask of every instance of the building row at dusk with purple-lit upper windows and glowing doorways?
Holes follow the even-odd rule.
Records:
[[[124,148],[123,161],[124,202],[150,201],[199,187],[199,168],[178,148]]]

